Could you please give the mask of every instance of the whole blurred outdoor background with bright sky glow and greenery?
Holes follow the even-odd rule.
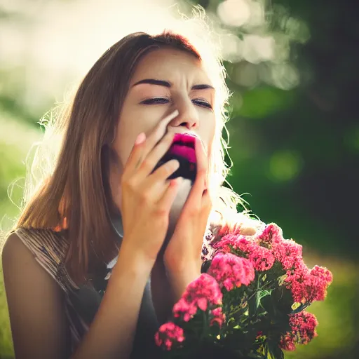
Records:
[[[177,1],[216,24],[231,97],[228,181],[264,222],[334,274],[318,337],[285,358],[358,358],[359,21],[351,0]],[[129,32],[174,21],[172,0],[0,0],[0,219],[18,215],[38,121]],[[11,182],[18,179],[14,186]],[[13,198],[11,202],[9,196]],[[0,268],[1,272],[1,268]],[[0,275],[0,358],[13,358]]]

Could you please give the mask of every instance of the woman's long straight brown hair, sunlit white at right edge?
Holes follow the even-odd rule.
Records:
[[[149,51],[170,46],[203,60],[184,36],[165,31],[151,36],[130,34],[100,57],[84,77],[74,99],[56,119],[63,140],[53,172],[31,194],[15,227],[62,228],[66,219],[69,249],[65,264],[70,276],[81,283],[114,252],[114,233],[110,216],[114,203],[109,187],[110,145],[113,142],[123,101],[138,62]],[[210,154],[210,186],[216,198],[213,209],[236,212],[241,198],[222,186],[228,168],[224,162],[226,144],[222,138],[224,105],[228,90],[222,63],[217,64],[217,102],[215,139]],[[215,87],[216,87],[216,81]],[[221,93],[221,90],[217,91]]]

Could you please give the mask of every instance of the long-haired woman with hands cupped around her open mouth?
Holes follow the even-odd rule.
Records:
[[[130,34],[97,60],[4,245],[16,358],[158,356],[154,333],[200,275],[205,234],[230,225],[208,224],[240,201],[222,187],[227,96],[220,62],[172,32]]]

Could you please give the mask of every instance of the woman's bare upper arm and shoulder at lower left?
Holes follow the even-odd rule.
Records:
[[[65,292],[18,233],[6,238],[1,259],[16,358],[65,358]]]

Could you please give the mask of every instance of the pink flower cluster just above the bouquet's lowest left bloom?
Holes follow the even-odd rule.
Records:
[[[197,313],[197,309],[206,311],[208,306],[222,304],[222,292],[212,276],[202,273],[196,280],[187,285],[186,291],[173,306],[175,318],[183,316],[188,322]]]

